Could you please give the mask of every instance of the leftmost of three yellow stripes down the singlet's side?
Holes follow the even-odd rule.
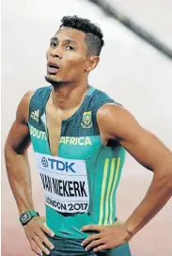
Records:
[[[104,169],[103,169],[103,178],[102,178],[102,194],[101,194],[101,205],[100,205],[100,219],[99,225],[102,225],[102,216],[103,216],[103,202],[104,202],[104,193],[105,193],[105,184],[106,184],[106,177],[107,177],[107,169],[109,165],[109,159],[105,159]]]

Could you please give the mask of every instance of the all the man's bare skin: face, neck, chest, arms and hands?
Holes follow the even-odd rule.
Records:
[[[46,75],[46,79],[53,85],[46,105],[50,148],[53,155],[58,153],[61,120],[68,119],[82,104],[89,88],[88,73],[99,63],[99,56],[87,54],[85,37],[86,34],[82,31],[62,27],[55,34],[57,40],[51,40],[47,51],[47,62],[54,61],[60,66],[56,73],[50,73],[47,69]],[[5,147],[8,180],[20,214],[35,209],[27,159],[30,144],[27,122],[32,94],[33,92],[29,91],[23,96]],[[86,250],[94,251],[115,248],[130,241],[172,196],[172,152],[156,136],[142,128],[129,111],[119,105],[103,105],[98,110],[97,120],[103,144],[106,145],[110,138],[117,139],[141,165],[153,171],[153,179],[144,200],[125,223],[111,226],[89,225],[82,228],[83,232],[98,231],[82,243]],[[24,226],[24,231],[33,251],[39,255],[43,251],[48,255],[50,249],[47,250],[41,241],[48,248],[53,247],[45,233],[51,236],[55,233],[45,225],[45,219],[33,217]]]

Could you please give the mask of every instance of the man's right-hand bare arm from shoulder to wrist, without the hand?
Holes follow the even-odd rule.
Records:
[[[134,234],[143,228],[172,196],[172,152],[119,105],[104,105],[98,113],[98,121],[104,143],[109,138],[117,138],[140,164],[151,169],[154,174],[147,195],[125,223],[128,232]]]

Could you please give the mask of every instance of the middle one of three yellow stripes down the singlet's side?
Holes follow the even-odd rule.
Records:
[[[107,219],[109,216],[109,195],[110,195],[110,190],[112,187],[112,181],[113,181],[113,176],[114,176],[114,169],[115,169],[115,165],[116,165],[116,158],[112,159],[112,163],[111,163],[111,170],[110,170],[110,177],[109,177],[109,184],[108,184],[108,188],[107,188],[107,195],[106,195],[106,199],[105,199],[105,220],[104,220],[104,225],[107,225]]]

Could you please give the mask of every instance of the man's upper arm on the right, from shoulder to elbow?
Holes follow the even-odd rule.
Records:
[[[144,167],[153,170],[163,168],[165,163],[168,164],[172,160],[172,152],[157,136],[141,127],[125,108],[114,104],[103,105],[98,110],[97,119],[105,138],[108,140],[116,137]]]

